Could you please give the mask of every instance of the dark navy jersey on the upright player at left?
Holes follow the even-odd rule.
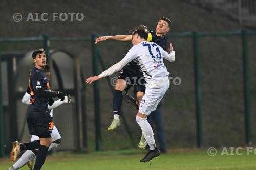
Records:
[[[36,96],[36,90],[49,91],[50,86],[44,70],[33,68],[29,75],[30,105],[28,117],[42,117],[49,115],[48,99]]]

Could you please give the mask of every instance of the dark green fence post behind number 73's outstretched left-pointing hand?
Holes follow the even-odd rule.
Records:
[[[93,75],[98,75],[98,48],[95,45],[95,39],[97,35],[92,34],[92,64],[93,64]],[[101,150],[101,130],[100,130],[100,98],[99,98],[99,82],[93,82],[94,89],[94,115],[95,115],[95,132],[96,132],[96,151]]]

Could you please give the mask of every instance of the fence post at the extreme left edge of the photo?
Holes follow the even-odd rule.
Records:
[[[4,115],[3,115],[3,101],[2,101],[2,58],[0,54],[0,158],[3,158],[5,155],[4,148]]]

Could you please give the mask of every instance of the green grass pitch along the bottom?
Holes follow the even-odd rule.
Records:
[[[243,155],[221,155],[221,150],[214,157],[207,154],[207,150],[170,150],[161,154],[151,162],[140,163],[145,155],[140,150],[103,151],[89,154],[56,153],[48,156],[42,169],[61,170],[113,170],[113,169],[256,169],[256,155],[246,150]],[[0,169],[7,169],[12,164],[8,158],[0,160]],[[28,169],[26,166],[22,168]]]

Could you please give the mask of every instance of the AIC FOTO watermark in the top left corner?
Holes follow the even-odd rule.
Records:
[[[39,12],[35,12],[35,13],[28,13],[26,15],[22,15],[20,13],[15,13],[12,16],[12,19],[15,22],[20,22],[22,20],[25,21],[82,21],[84,19],[84,15],[83,13],[79,12],[79,13],[75,13],[75,12],[62,12],[62,13],[58,13],[58,12],[53,12],[53,13],[39,13]]]

